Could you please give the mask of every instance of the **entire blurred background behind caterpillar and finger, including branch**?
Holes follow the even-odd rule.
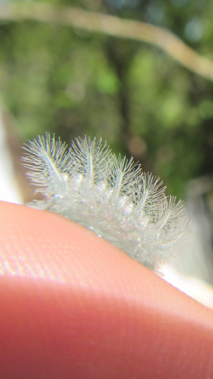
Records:
[[[133,155],[144,171],[161,176],[168,195],[185,200],[197,228],[196,249],[176,265],[212,285],[212,1],[42,2],[50,17],[45,7],[36,13],[39,4],[0,1],[0,198],[32,198],[20,159],[28,139],[45,131],[68,144],[84,134],[101,136],[116,153]],[[64,6],[83,11],[76,24],[62,16]],[[89,12],[96,31],[88,28]],[[98,24],[99,13],[116,17],[112,35],[107,20]],[[145,23],[143,32],[135,24],[137,37],[124,37],[124,19]],[[175,43],[168,55],[169,35],[163,38],[157,28],[155,43],[147,43],[148,24],[174,33],[195,56],[183,50],[175,60]]]

